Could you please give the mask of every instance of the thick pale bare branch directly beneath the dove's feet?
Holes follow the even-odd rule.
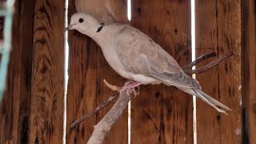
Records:
[[[132,92],[124,90],[120,93],[118,101],[114,103],[111,110],[102,118],[96,126],[94,126],[94,132],[90,136],[87,144],[102,144],[106,134],[110,132],[114,122],[122,115],[123,110],[130,102]]]

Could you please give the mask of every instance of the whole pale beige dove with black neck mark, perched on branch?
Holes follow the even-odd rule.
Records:
[[[111,68],[130,80],[122,89],[162,83],[200,98],[220,113],[231,111],[228,106],[203,92],[199,82],[185,74],[169,53],[134,26],[100,23],[90,14],[76,13],[64,30],[78,30],[101,47]]]

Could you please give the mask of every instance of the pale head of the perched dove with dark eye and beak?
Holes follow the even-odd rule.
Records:
[[[90,35],[96,32],[98,27],[101,26],[96,18],[86,13],[76,13],[70,18],[70,25],[65,28],[66,30],[78,30],[82,34]]]

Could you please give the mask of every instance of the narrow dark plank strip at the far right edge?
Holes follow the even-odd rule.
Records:
[[[242,1],[243,142],[256,143],[256,23],[255,1]],[[249,138],[248,138],[249,136]]]

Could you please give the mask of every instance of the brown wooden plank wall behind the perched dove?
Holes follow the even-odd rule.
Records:
[[[109,1],[126,9],[118,1]],[[0,143],[62,143],[64,5],[64,0],[15,3],[13,50],[0,107]],[[191,62],[190,0],[132,0],[131,7],[131,25],[158,42],[181,66]],[[75,11],[70,0],[69,18]],[[127,22],[124,13],[115,12],[114,20]],[[234,50],[232,58],[196,75],[207,94],[233,110],[226,116],[197,100],[197,142],[256,143],[255,2],[195,0],[195,14],[197,57]],[[86,143],[111,105],[75,129],[70,129],[71,122],[110,96],[103,79],[118,86],[126,80],[108,66],[90,38],[70,31],[68,41],[66,143]],[[192,97],[174,87],[142,86],[131,102],[130,118],[132,144],[194,143]],[[128,143],[128,110],[105,143]]]

